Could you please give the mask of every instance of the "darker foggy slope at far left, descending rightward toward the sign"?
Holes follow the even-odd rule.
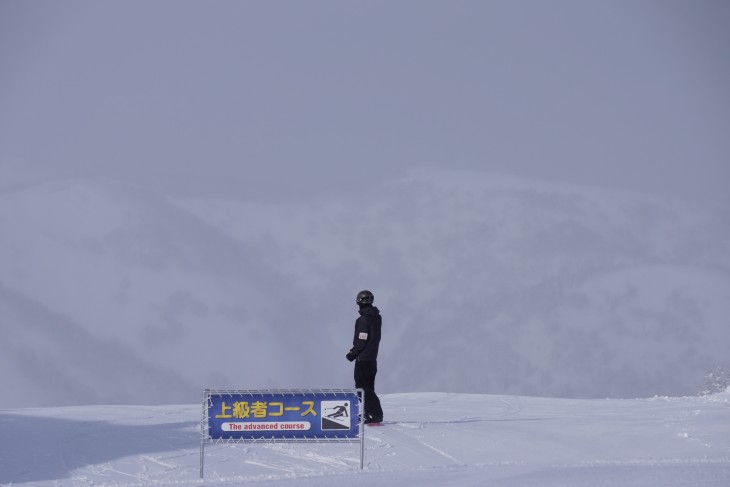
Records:
[[[190,383],[0,286],[2,407],[189,399]]]

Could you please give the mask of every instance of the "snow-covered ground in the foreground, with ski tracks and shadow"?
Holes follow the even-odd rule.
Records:
[[[706,397],[382,397],[358,444],[208,445],[200,405],[0,411],[0,484],[730,485],[730,391]]]

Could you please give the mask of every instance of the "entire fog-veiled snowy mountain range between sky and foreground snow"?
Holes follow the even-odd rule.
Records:
[[[0,407],[345,387],[371,289],[379,388],[694,394],[729,367],[730,209],[419,171],[306,203],[108,179],[0,195]]]

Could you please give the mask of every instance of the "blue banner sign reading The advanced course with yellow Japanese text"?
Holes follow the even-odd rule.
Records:
[[[210,391],[211,440],[356,439],[356,391]]]

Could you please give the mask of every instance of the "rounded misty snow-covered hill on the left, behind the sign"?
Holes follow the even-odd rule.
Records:
[[[291,335],[277,328],[286,325],[277,311],[285,300],[277,293],[293,294],[286,292],[286,280],[262,267],[257,251],[164,196],[109,182],[67,181],[0,201],[0,309],[10,332],[0,347],[44,359],[31,367],[9,364],[0,372],[4,385],[16,386],[3,397],[3,406],[35,405],[18,401],[31,389],[63,384],[64,356],[85,355],[91,375],[100,368],[107,373],[77,377],[83,387],[40,405],[185,402],[202,384],[229,385],[240,371],[258,366],[258,353],[221,354],[226,343],[254,350],[291,348]],[[39,319],[39,313],[45,316]],[[56,340],[56,334],[68,336],[71,326],[88,336]],[[27,336],[41,328],[46,331]],[[123,354],[105,353],[95,339]],[[48,355],[48,348],[58,356]],[[140,381],[127,372],[140,363],[154,383],[152,391],[142,382],[133,392]],[[271,386],[296,374],[269,364],[248,382]],[[127,384],[124,398],[99,391],[112,384],[119,389],[120,383]]]

